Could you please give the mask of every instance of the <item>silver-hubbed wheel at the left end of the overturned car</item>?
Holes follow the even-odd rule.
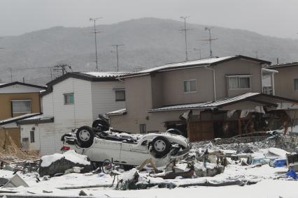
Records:
[[[76,132],[76,139],[78,146],[81,148],[88,148],[93,144],[94,132],[92,128],[87,125],[84,125],[78,128]]]

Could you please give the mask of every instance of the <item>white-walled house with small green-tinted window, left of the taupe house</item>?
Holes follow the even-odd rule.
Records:
[[[34,131],[28,150],[41,155],[60,151],[62,135],[92,125],[99,114],[125,108],[125,85],[118,77],[128,72],[67,73],[47,84],[41,93],[43,115],[19,121],[21,139]]]

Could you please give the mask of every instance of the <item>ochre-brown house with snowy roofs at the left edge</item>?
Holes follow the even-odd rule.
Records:
[[[0,135],[9,135],[20,146],[20,128],[16,121],[36,116],[41,112],[40,92],[45,86],[10,82],[0,84]]]

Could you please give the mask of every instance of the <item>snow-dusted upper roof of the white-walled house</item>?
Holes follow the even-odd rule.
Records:
[[[59,82],[64,81],[65,79],[68,79],[69,77],[73,77],[76,79],[83,79],[87,81],[92,82],[109,82],[109,81],[117,81],[118,77],[122,75],[129,75],[133,72],[89,72],[89,73],[66,73],[65,75],[62,75],[61,77],[57,77],[56,79],[53,79],[52,81],[48,82],[48,89],[46,91],[43,91],[41,93],[42,96],[45,96],[48,93],[52,92],[52,86],[54,84],[57,84]]]

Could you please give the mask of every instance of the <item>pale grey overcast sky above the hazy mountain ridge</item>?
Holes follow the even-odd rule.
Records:
[[[0,36],[52,26],[111,24],[140,17],[246,29],[298,39],[297,0],[0,0]]]

